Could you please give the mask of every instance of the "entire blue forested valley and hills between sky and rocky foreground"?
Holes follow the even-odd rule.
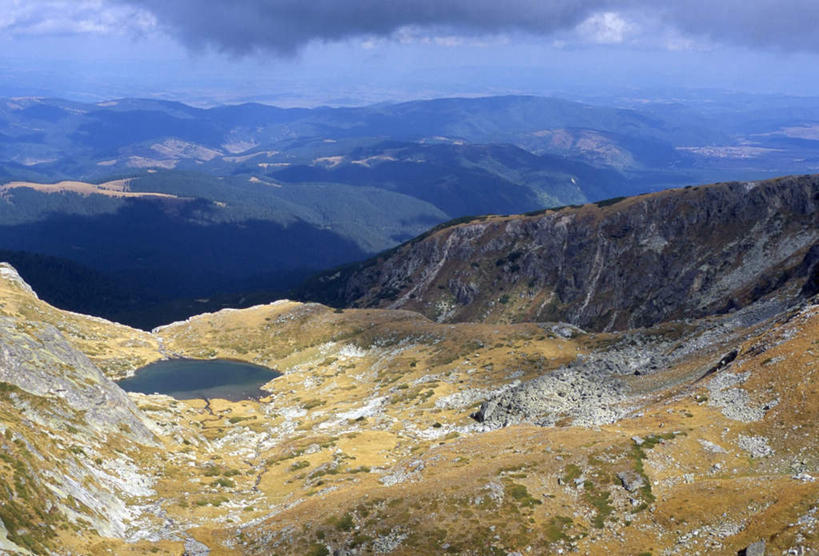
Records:
[[[309,109],[6,98],[0,250],[55,305],[148,330],[307,299],[306,278],[453,219],[814,173],[816,122],[814,98],[717,93]]]

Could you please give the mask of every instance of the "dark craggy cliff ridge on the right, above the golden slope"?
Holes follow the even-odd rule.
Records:
[[[650,326],[810,287],[818,205],[814,175],[482,217],[327,273],[303,294],[438,321]]]

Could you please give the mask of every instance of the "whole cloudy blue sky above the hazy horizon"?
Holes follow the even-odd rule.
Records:
[[[817,0],[0,0],[0,96],[815,95]]]

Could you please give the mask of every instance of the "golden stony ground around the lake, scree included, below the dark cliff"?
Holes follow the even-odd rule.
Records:
[[[819,551],[819,300],[612,334],[283,301],[149,334],[0,271],[0,552]],[[95,417],[96,369],[171,356],[284,374]]]

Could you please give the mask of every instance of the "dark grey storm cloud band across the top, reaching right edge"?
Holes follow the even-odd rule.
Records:
[[[290,53],[312,40],[389,36],[406,26],[464,33],[571,30],[602,11],[717,43],[819,51],[819,0],[119,0],[192,46]],[[643,32],[654,30],[643,27]]]

